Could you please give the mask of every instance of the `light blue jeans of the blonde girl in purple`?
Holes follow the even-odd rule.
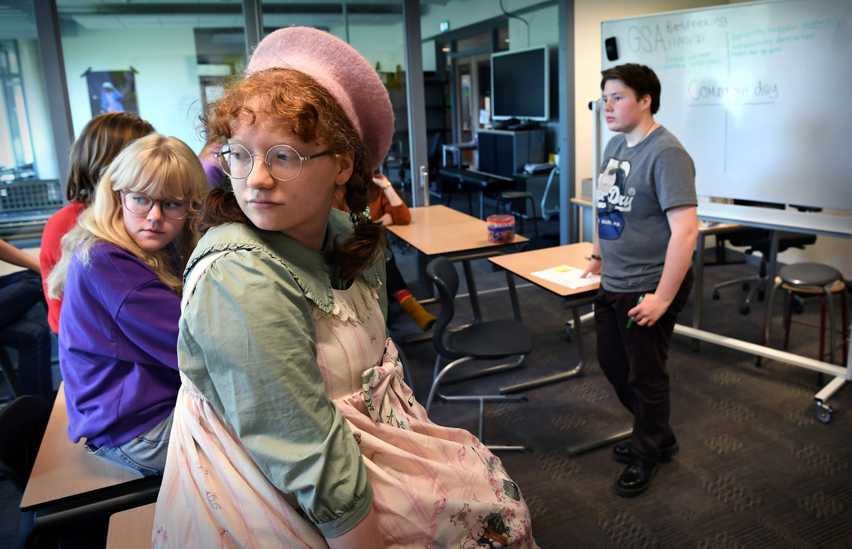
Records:
[[[175,410],[172,409],[164,420],[124,444],[113,448],[101,446],[99,449],[86,451],[143,477],[162,475],[165,470],[165,458],[169,454],[169,437],[174,418]]]

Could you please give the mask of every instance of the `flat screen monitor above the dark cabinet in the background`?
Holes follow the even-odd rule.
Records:
[[[491,105],[494,120],[550,120],[547,46],[491,55]]]

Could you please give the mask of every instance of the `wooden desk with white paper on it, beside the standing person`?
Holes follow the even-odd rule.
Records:
[[[568,288],[550,280],[536,277],[532,273],[549,269],[550,267],[567,265],[584,269],[589,265],[589,260],[585,257],[591,254],[592,245],[588,242],[576,244],[567,244],[567,246],[555,246],[553,248],[533,249],[528,252],[520,252],[518,254],[505,254],[496,257],[488,258],[492,263],[503,267],[507,272],[513,272],[515,275],[524,278],[531,283],[537,284],[544,289],[550,290],[556,295],[559,295],[566,302],[566,305],[571,308],[574,318],[574,330],[577,333],[577,345],[579,346],[580,362],[567,372],[550,375],[538,380],[526,381],[514,386],[503,387],[500,389],[501,394],[511,392],[521,392],[534,387],[550,385],[556,381],[567,380],[579,375],[583,371],[585,363],[585,349],[583,346],[583,337],[581,333],[579,306],[588,305],[595,299],[597,289],[600,284],[593,283],[590,286],[583,288]]]

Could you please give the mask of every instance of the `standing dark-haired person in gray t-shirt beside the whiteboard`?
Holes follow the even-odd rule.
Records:
[[[694,282],[698,201],[692,158],[653,120],[660,94],[656,74],[629,64],[602,75],[604,116],[619,135],[603,153],[597,232],[583,276],[601,275],[598,360],[633,415],[630,442],[613,449],[613,458],[627,464],[615,489],[628,497],[648,489],[658,463],[678,450],[665,360]]]

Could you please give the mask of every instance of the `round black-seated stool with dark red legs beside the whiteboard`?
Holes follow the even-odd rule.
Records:
[[[792,265],[782,267],[780,272],[778,272],[778,276],[775,277],[774,286],[771,290],[769,290],[769,300],[766,304],[766,317],[763,320],[763,335],[760,340],[761,345],[771,345],[772,340],[769,337],[769,331],[771,325],[772,303],[775,292],[778,291],[779,288],[786,289],[789,294],[786,316],[784,319],[784,349],[787,348],[787,342],[790,339],[790,324],[792,322],[803,323],[801,321],[792,320],[793,295],[820,295],[820,325],[818,326],[820,329],[820,361],[826,356],[826,308],[828,310],[829,323],[829,362],[834,363],[834,351],[837,348],[835,336],[838,331],[843,337],[843,357],[845,359],[849,349],[849,344],[846,339],[847,302],[846,284],[843,282],[843,275],[834,267],[827,266],[822,263],[794,263]],[[843,307],[843,310],[841,311],[841,322],[843,324],[840,327],[840,330],[834,328],[834,306],[832,302],[832,294],[838,293],[840,294],[840,300]],[[817,327],[815,324],[804,324]],[[757,358],[757,365],[760,365],[760,357]]]

